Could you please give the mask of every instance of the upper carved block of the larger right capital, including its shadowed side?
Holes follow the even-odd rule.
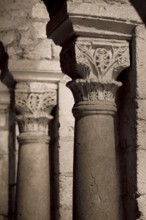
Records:
[[[62,71],[72,79],[116,80],[130,65],[129,44],[126,41],[79,38],[63,47],[60,60]]]

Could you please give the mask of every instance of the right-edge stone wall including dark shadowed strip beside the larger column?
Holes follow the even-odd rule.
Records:
[[[122,198],[128,220],[146,219],[146,28],[136,27],[131,40],[131,68],[121,75],[119,147]]]

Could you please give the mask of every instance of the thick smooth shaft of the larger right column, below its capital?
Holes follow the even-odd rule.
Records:
[[[120,219],[115,151],[113,115],[97,112],[76,120],[74,220]]]

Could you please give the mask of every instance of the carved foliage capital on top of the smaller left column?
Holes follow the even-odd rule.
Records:
[[[56,105],[56,89],[49,83],[19,82],[15,89],[16,120],[20,133],[46,133],[52,108]]]

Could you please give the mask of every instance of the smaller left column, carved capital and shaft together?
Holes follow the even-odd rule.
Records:
[[[56,85],[19,82],[15,105],[20,135],[17,220],[50,219],[48,123],[56,105]]]

